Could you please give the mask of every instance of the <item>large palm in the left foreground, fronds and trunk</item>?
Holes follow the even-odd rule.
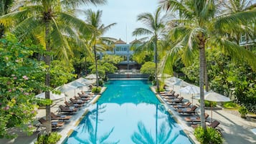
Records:
[[[70,51],[70,45],[67,37],[72,37],[79,41],[76,32],[88,32],[88,26],[84,21],[77,19],[72,14],[72,9],[80,4],[101,4],[105,0],[31,0],[27,1],[19,11],[1,16],[0,22],[4,25],[16,24],[12,29],[14,34],[20,38],[35,36],[47,50],[45,63],[48,65],[47,75],[45,76],[45,85],[50,85],[49,67],[52,59],[51,52],[61,53],[67,58],[67,51]],[[75,31],[74,31],[75,29]],[[56,55],[54,55],[56,56]],[[49,92],[45,92],[45,98],[49,99]],[[46,106],[47,133],[50,133],[51,116],[50,105]]]

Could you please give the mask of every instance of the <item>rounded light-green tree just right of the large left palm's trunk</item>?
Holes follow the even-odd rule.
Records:
[[[72,78],[76,77],[76,75],[72,74],[74,71],[75,70],[70,63],[60,60],[52,61],[50,69],[51,86],[57,87],[60,85],[64,85],[69,80],[72,80]]]

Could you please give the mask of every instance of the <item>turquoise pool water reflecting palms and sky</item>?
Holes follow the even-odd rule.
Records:
[[[112,80],[65,142],[191,144],[146,80]]]

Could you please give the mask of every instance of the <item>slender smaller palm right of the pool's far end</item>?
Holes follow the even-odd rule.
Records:
[[[143,13],[139,14],[137,21],[142,21],[143,24],[145,24],[146,28],[137,28],[134,30],[133,35],[149,35],[150,39],[148,40],[148,44],[146,45],[152,45],[153,44],[153,51],[154,51],[154,61],[156,63],[156,69],[155,69],[155,80],[156,80],[156,87],[157,91],[159,91],[159,82],[157,78],[157,43],[158,39],[160,38],[161,34],[163,34],[163,28],[164,28],[164,19],[165,16],[161,16],[161,9],[157,9],[155,14],[150,13]]]

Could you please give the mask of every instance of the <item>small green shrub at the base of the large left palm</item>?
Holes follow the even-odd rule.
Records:
[[[34,144],[56,144],[61,137],[62,136],[57,132],[39,135],[37,137],[37,142],[35,142]]]

